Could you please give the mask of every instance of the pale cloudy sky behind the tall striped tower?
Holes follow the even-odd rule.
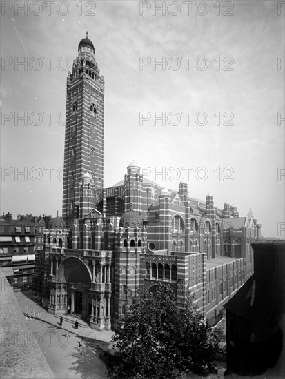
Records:
[[[285,238],[280,3],[2,1],[1,214],[61,214],[66,77],[88,31],[105,80],[104,187],[135,160],[161,187],[184,180]]]

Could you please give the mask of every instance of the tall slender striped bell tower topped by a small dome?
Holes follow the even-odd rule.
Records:
[[[95,190],[103,188],[103,154],[104,76],[100,76],[95,48],[86,33],[67,78],[62,204],[66,220],[78,214],[81,181],[86,172],[92,176]]]

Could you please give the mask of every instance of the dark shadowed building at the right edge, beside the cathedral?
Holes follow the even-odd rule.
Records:
[[[226,303],[226,376],[285,376],[285,241],[253,243],[255,272]]]

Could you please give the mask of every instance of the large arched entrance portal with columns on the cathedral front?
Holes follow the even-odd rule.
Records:
[[[50,289],[52,313],[69,311],[79,317],[88,317],[88,290],[91,288],[90,270],[77,257],[63,260],[57,269],[55,284]],[[55,296],[54,296],[55,294]]]

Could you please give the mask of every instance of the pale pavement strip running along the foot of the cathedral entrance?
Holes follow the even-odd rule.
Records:
[[[79,318],[69,316],[67,314],[63,315],[53,315],[49,314],[46,309],[41,307],[37,301],[33,300],[32,291],[18,291],[14,292],[15,297],[21,307],[23,314],[25,314],[26,319],[38,319],[46,322],[50,325],[68,331],[69,333],[75,334],[81,338],[88,338],[90,340],[96,340],[101,342],[107,342],[107,350],[112,350],[111,339],[114,335],[113,331],[102,330],[97,331],[89,327],[89,325]],[[59,325],[59,319],[62,316],[63,323]],[[79,322],[78,329],[75,329],[75,320]]]

